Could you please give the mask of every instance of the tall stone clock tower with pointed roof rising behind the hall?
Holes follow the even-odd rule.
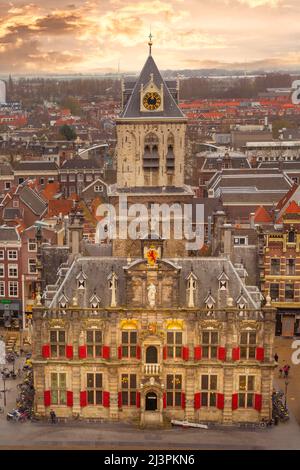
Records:
[[[116,120],[117,183],[109,189],[115,207],[121,195],[126,195],[129,207],[184,204],[193,197],[184,184],[187,118],[178,106],[178,81],[163,79],[151,48],[150,36],[140,76],[122,83],[122,111]],[[140,245],[125,238],[114,240],[113,255],[138,256]],[[173,242],[172,249],[170,241],[165,242],[165,255],[185,254],[184,241]]]

